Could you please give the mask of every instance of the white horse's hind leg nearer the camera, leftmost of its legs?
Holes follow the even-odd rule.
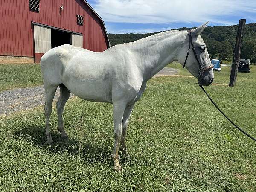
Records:
[[[44,86],[45,89],[45,105],[44,105],[44,116],[46,120],[46,131],[47,143],[52,143],[52,135],[50,132],[50,116],[52,113],[52,101],[58,86]]]

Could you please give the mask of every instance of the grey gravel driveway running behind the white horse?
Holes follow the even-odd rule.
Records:
[[[177,72],[176,69],[166,67],[155,76],[170,76],[177,74]],[[60,90],[58,88],[54,97],[55,100],[57,100],[59,94]],[[44,87],[42,85],[0,92],[0,115],[35,108],[38,105],[44,105]]]

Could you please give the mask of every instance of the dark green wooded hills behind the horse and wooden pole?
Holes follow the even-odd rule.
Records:
[[[194,28],[179,28],[173,30],[189,30]],[[207,46],[211,59],[219,59],[221,62],[231,63],[233,60],[233,50],[236,44],[236,33],[238,25],[233,26],[208,26],[204,29],[201,36]],[[154,35],[146,34],[108,34],[111,46],[117,44],[137,41],[138,39]],[[243,41],[241,47],[241,59],[251,59],[251,63],[256,63],[256,23],[245,25]]]

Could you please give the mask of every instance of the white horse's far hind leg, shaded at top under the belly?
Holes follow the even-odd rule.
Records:
[[[68,90],[64,84],[60,84],[59,87],[61,94],[59,96],[58,102],[56,103],[58,113],[58,130],[61,132],[61,137],[66,137],[68,139],[68,136],[64,130],[62,113],[64,111],[65,104],[70,97],[70,90]]]

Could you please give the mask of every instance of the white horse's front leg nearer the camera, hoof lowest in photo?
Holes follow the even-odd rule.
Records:
[[[113,148],[113,161],[114,161],[114,167],[113,169],[116,171],[121,170],[121,166],[119,164],[119,155],[118,155],[118,150],[119,150],[119,145],[120,145],[120,140],[122,136],[122,119],[125,111],[125,105],[124,104],[116,104],[113,103],[114,107],[114,138],[115,138],[115,144]]]

